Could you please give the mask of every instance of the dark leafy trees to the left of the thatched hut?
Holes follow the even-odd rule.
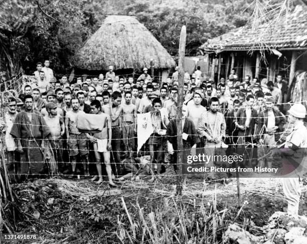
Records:
[[[2,68],[11,73],[8,57],[26,70],[49,58],[56,71],[65,72],[75,50],[97,29],[97,18],[103,18],[100,5],[91,0],[10,0],[1,5],[0,42],[2,54],[8,54],[2,55]]]

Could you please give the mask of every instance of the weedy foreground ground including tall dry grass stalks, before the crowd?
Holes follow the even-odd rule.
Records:
[[[88,180],[17,184],[23,215],[14,232],[39,233],[36,243],[228,243],[223,233],[229,224],[261,235],[256,225],[285,205],[273,179],[241,179],[242,201],[249,201],[241,211],[235,180],[215,185],[191,178],[179,197],[174,182],[166,175],[155,183],[125,181],[115,190]]]

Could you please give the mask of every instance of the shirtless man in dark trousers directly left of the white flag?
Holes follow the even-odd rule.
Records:
[[[122,109],[122,136],[124,141],[125,158],[133,154],[134,136],[136,135],[136,106],[131,103],[132,94],[125,93],[125,104],[121,104]],[[132,151],[132,154],[131,154]],[[128,155],[130,152],[130,155]]]

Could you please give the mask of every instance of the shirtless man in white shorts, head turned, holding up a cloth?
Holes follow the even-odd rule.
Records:
[[[109,186],[114,187],[116,186],[113,181],[112,177],[112,170],[110,165],[110,150],[111,150],[111,139],[112,139],[112,128],[111,128],[111,118],[106,113],[101,112],[101,103],[98,100],[93,100],[90,104],[92,114],[100,114],[102,119],[102,123],[104,127],[101,132],[94,133],[89,137],[89,140],[93,143],[93,149],[96,159],[96,168],[98,176],[94,176],[91,181],[95,181],[98,178],[96,184],[100,184],[102,179],[102,171],[101,171],[101,153],[103,153],[103,159],[105,163],[106,172],[108,175]]]

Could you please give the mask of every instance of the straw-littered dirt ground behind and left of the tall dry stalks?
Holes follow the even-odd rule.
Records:
[[[38,179],[16,184],[14,190],[20,199],[16,203],[19,210],[15,213],[8,211],[8,216],[16,227],[15,233],[37,233],[38,238],[29,242],[4,240],[3,243],[120,243],[116,235],[118,223],[128,223],[122,199],[131,215],[137,214],[136,203],[149,212],[165,206],[165,202],[172,199],[187,205],[192,214],[204,203],[210,211],[216,195],[217,210],[228,209],[229,221],[236,217],[239,210],[236,178],[224,185],[189,178],[179,197],[175,196],[175,184],[176,176],[170,170],[162,180],[154,183],[148,183],[148,178],[140,182],[127,180],[116,189],[110,189],[106,182],[97,186],[88,179]],[[305,186],[303,189],[299,214],[306,215]],[[280,179],[241,178],[240,192],[241,203],[246,205],[236,222],[243,226],[247,222],[263,226],[275,211],[283,211],[286,207]],[[254,234],[257,231],[257,228],[253,229]]]

